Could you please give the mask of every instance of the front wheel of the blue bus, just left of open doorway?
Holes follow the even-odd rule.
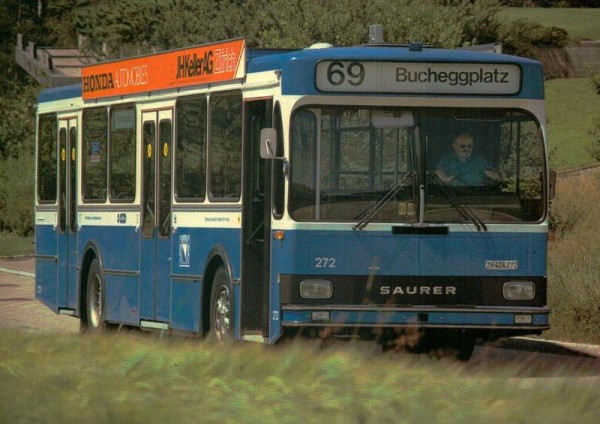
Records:
[[[227,271],[220,266],[210,292],[210,337],[219,343],[233,340],[233,302]]]

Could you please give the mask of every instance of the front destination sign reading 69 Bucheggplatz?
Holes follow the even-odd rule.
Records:
[[[316,87],[325,92],[512,95],[521,68],[498,63],[323,61]]]

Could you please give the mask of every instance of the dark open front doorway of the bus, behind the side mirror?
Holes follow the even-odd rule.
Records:
[[[270,161],[260,157],[260,130],[271,126],[272,112],[272,100],[246,103],[242,155],[242,337],[246,338],[269,335],[271,173]]]

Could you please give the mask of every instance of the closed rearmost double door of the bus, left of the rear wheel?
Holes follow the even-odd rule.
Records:
[[[77,119],[58,121],[58,308],[77,307]]]

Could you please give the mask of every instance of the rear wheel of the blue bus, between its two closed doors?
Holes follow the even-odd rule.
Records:
[[[106,309],[104,279],[98,259],[90,265],[86,282],[85,321],[81,322],[82,330],[89,333],[101,333],[106,327]]]

